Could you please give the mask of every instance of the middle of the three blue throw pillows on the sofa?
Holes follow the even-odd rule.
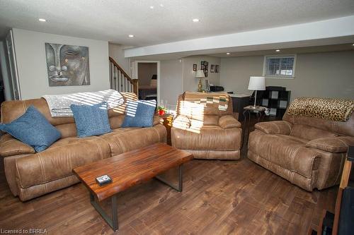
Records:
[[[76,123],[77,136],[103,135],[111,132],[108,120],[108,104],[70,105]]]

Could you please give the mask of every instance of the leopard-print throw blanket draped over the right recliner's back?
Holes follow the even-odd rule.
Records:
[[[331,121],[348,121],[353,109],[354,100],[299,97],[290,104],[287,114]]]

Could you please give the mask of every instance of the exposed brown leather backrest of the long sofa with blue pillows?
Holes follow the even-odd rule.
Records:
[[[124,120],[125,108],[127,100],[137,100],[137,95],[131,92],[121,92],[124,97],[124,104],[119,107],[108,110],[108,117],[110,119],[110,128],[119,128]],[[38,111],[45,116],[45,118],[55,126],[62,134],[62,138],[76,136],[76,126],[74,117],[55,117],[52,118],[45,99],[32,100],[11,100],[1,103],[1,123],[10,123],[25,113],[25,111],[33,105]]]

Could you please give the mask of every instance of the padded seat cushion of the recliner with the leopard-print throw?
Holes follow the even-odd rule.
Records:
[[[318,168],[315,160],[320,154],[305,145],[306,142],[301,138],[267,135],[258,130],[249,136],[249,149],[256,155],[309,178],[312,177],[312,171]]]

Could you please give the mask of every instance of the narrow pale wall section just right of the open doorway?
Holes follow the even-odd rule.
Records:
[[[176,104],[183,93],[183,61],[172,59],[160,61],[160,102]]]

